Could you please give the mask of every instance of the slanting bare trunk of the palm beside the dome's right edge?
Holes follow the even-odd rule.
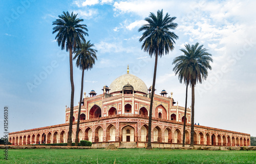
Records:
[[[151,126],[152,126],[152,108],[153,108],[153,98],[155,92],[155,84],[156,84],[156,74],[157,74],[157,58],[158,53],[155,54],[155,68],[154,68],[154,77],[153,77],[153,85],[152,85],[152,92],[151,92],[151,99],[150,99],[150,118],[148,119],[148,138],[147,138],[147,147],[146,149],[152,149],[151,146]]]

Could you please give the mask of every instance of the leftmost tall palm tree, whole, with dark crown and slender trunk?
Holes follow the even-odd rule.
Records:
[[[52,25],[56,25],[53,28],[52,34],[57,32],[55,39],[58,42],[58,46],[61,49],[69,51],[69,64],[70,64],[70,83],[71,83],[71,102],[70,102],[70,122],[69,122],[69,134],[68,134],[68,146],[72,145],[72,124],[73,124],[73,112],[74,112],[74,81],[73,81],[73,63],[72,63],[72,50],[81,44],[81,41],[85,41],[84,36],[88,36],[86,24],[79,24],[83,19],[76,18],[77,14],[69,12],[63,12],[59,15],[58,19],[53,21]]]

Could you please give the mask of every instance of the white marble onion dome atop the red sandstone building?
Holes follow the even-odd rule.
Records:
[[[122,91],[123,86],[129,83],[133,86],[134,91],[143,92],[145,94],[148,93],[146,84],[139,77],[126,73],[117,77],[110,85],[110,93]]]

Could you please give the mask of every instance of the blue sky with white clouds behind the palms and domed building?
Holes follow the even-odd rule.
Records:
[[[141,50],[138,28],[150,12],[177,17],[175,49],[159,59],[156,89],[165,89],[184,106],[185,85],[173,72],[184,44],[199,42],[212,54],[208,78],[196,86],[195,122],[256,136],[254,1],[4,1],[0,10],[0,102],[8,105],[9,131],[65,122],[70,106],[68,52],[58,47],[52,22],[62,11],[78,13],[98,49],[94,68],[85,72],[84,92],[101,94],[120,75],[130,73],[150,87],[154,59]],[[40,78],[40,79],[38,79]],[[75,105],[81,71],[74,67]],[[32,85],[33,84],[33,85]],[[33,86],[33,87],[32,87]],[[189,91],[189,104],[191,103]],[[254,107],[253,107],[254,106]],[[3,111],[3,110],[2,110]],[[3,125],[3,112],[0,113]],[[1,134],[3,128],[0,128]]]

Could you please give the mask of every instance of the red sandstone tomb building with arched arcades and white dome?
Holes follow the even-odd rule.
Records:
[[[80,117],[79,140],[88,140],[95,147],[115,144],[117,147],[145,147],[152,89],[135,75],[127,73],[102,88],[103,93],[90,97],[84,93],[81,115],[74,106],[72,141],[75,141],[76,121]],[[156,91],[155,91],[156,92]],[[173,93],[154,94],[152,115],[152,146],[182,146],[184,107],[174,101]],[[190,115],[187,109],[185,143],[190,144]],[[64,124],[9,133],[13,145],[67,143],[70,108],[66,106]],[[195,146],[249,146],[250,134],[195,125]]]

